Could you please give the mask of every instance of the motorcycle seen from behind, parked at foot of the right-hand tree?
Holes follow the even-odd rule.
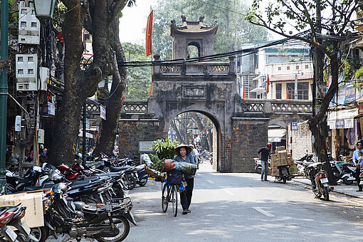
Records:
[[[324,197],[325,201],[329,201],[329,191],[334,189],[329,185],[327,179],[327,172],[322,169],[323,164],[321,162],[315,162],[306,167],[311,180],[312,191],[317,198]]]

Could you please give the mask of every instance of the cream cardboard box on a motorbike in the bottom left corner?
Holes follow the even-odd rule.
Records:
[[[44,226],[42,196],[43,191],[2,195],[0,206],[16,206],[22,203],[22,206],[26,206],[26,211],[21,221],[25,221],[29,228],[41,227]]]

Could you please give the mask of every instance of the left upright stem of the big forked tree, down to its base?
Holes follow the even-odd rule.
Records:
[[[63,22],[64,79],[65,87],[61,107],[57,113],[56,128],[50,152],[50,162],[74,162],[76,142],[80,127],[80,110],[85,96],[79,95],[80,68],[79,61],[83,53],[82,31],[84,9],[77,1],[68,2],[72,13],[66,14]]]

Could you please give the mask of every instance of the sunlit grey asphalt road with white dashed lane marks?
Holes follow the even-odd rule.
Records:
[[[289,181],[288,181],[289,183]],[[260,181],[258,174],[221,174],[202,164],[195,177],[191,214],[161,210],[160,183],[130,191],[137,226],[125,241],[362,241],[360,201]]]

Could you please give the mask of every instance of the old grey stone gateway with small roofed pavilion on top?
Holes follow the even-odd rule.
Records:
[[[185,16],[181,19],[181,26],[177,26],[174,20],[171,24],[173,57],[187,58],[190,45],[198,48],[199,56],[212,55],[217,23],[207,27],[203,23],[204,17],[199,21],[186,21]],[[160,56],[155,55],[154,61],[160,61]],[[294,105],[294,102],[289,103]],[[142,152],[148,142],[167,137],[174,117],[182,112],[195,111],[209,117],[216,127],[214,169],[219,172],[250,172],[253,157],[268,140],[270,117],[280,111],[279,119],[285,115],[285,122],[296,121],[311,109],[306,102],[303,107],[296,102],[293,112],[288,113],[290,104],[241,100],[236,85],[234,56],[228,62],[161,63],[152,71],[150,98],[124,103],[119,125],[120,153]]]

